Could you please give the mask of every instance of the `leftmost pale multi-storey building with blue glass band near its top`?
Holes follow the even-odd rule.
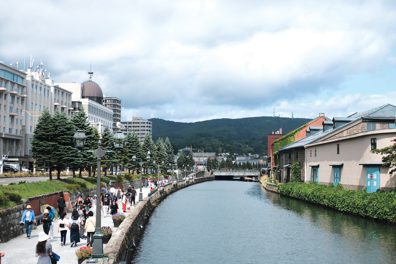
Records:
[[[21,115],[27,97],[26,74],[0,62],[0,153],[8,161],[27,161],[25,123]]]

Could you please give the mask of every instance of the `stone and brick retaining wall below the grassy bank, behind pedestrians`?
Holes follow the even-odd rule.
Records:
[[[129,185],[135,186],[136,188],[139,186],[140,180],[131,180],[125,182],[114,182],[113,186],[115,188],[118,187],[118,184],[121,184],[121,189],[127,189]],[[120,186],[120,187],[121,187]],[[21,236],[22,234],[26,233],[25,225],[19,225],[21,221],[21,217],[23,212],[26,209],[26,206],[30,204],[32,210],[34,211],[34,216],[36,217],[37,223],[36,225],[40,224],[40,220],[42,219],[42,213],[40,211],[40,201],[41,204],[48,204],[53,206],[55,209],[58,209],[57,199],[60,197],[59,194],[63,193],[66,202],[69,202],[69,212],[74,209],[74,203],[76,199],[81,194],[83,198],[87,195],[96,194],[96,187],[88,188],[84,190],[80,190],[77,192],[69,192],[69,191],[58,191],[52,192],[49,194],[42,194],[37,196],[28,197],[22,199],[24,204],[14,206],[12,208],[4,209],[0,211],[0,237],[3,242],[9,241],[13,237]],[[71,201],[71,202],[70,202]]]

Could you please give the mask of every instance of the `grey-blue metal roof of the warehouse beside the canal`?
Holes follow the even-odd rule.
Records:
[[[382,114],[382,117],[381,117]],[[280,150],[287,150],[291,148],[299,148],[303,147],[306,144],[312,143],[314,141],[317,141],[318,139],[321,139],[322,137],[325,137],[326,135],[329,135],[330,133],[333,133],[334,131],[341,131],[342,128],[350,124],[351,122],[357,121],[361,118],[375,118],[375,119],[387,119],[387,118],[392,118],[395,119],[396,115],[396,106],[392,104],[384,104],[383,106],[379,106],[377,108],[373,108],[371,110],[367,110],[364,112],[356,113],[351,115],[348,118],[333,118],[333,120],[348,120],[350,121],[348,123],[345,123],[339,127],[333,127],[332,129],[327,129],[325,131],[319,130],[316,131],[315,133],[311,133],[307,137],[303,137],[300,140],[297,140],[291,144],[288,144],[287,146],[284,146],[280,148]],[[374,117],[375,116],[375,117]]]

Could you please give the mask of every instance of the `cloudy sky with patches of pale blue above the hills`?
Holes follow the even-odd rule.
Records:
[[[122,120],[332,118],[396,105],[394,1],[0,6],[0,61],[26,69],[31,55],[55,82],[92,69],[103,93],[122,99]]]

